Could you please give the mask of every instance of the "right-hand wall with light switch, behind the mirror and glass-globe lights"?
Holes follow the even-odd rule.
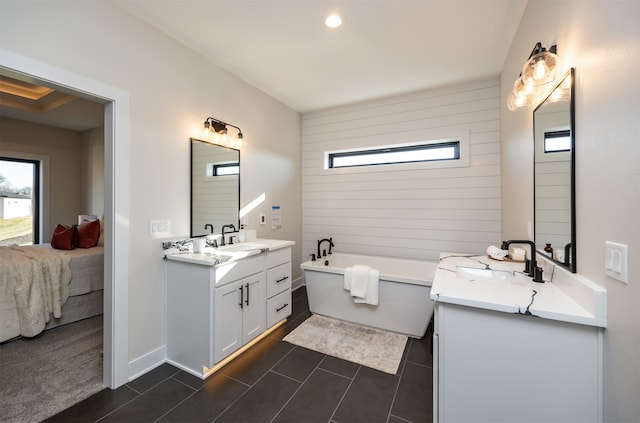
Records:
[[[640,2],[530,1],[501,77],[502,224],[530,236],[532,112],[506,99],[537,41],[576,68],[578,273],[607,289],[604,420],[640,421]],[[605,241],[629,246],[629,284],[604,273]],[[552,357],[550,357],[552,359]]]

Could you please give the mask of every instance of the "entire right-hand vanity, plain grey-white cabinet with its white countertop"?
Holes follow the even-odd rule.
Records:
[[[514,278],[467,279],[458,268],[470,264],[514,266]],[[438,264],[433,421],[602,422],[606,291],[575,275],[535,283],[517,266]]]

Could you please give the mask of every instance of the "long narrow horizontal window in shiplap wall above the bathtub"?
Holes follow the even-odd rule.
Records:
[[[328,153],[328,167],[336,169],[459,159],[460,141],[447,141]]]

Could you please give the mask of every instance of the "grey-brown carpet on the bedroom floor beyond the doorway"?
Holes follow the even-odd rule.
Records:
[[[0,422],[38,422],[102,390],[102,316],[0,345]]]

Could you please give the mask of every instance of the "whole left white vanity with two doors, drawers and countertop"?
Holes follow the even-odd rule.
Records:
[[[215,251],[167,255],[168,362],[205,378],[291,314],[293,242],[259,242],[252,252],[240,250],[239,258],[219,264]]]

